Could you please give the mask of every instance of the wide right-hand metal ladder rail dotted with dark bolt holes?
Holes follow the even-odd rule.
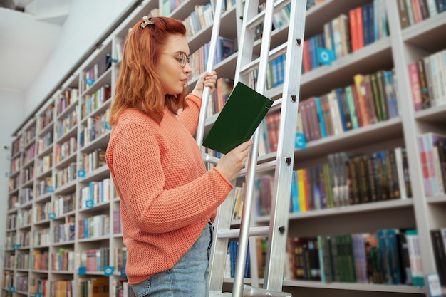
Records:
[[[294,165],[294,139],[299,108],[299,92],[304,43],[306,1],[291,1],[289,33],[286,50],[284,90],[282,92],[279,140],[274,174],[273,202],[266,255],[264,288],[282,290],[282,274],[288,233],[291,175]],[[294,26],[291,26],[294,25]],[[298,82],[291,82],[291,78]],[[277,203],[277,199],[283,199]],[[279,207],[279,208],[278,208]],[[280,214],[280,215],[279,215]],[[279,237],[284,236],[284,239]],[[279,239],[279,240],[278,240]]]

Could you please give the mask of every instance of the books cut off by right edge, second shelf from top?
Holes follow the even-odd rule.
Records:
[[[416,111],[446,103],[446,50],[409,63],[408,73]]]

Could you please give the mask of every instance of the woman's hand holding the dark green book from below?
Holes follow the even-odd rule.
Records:
[[[220,158],[216,169],[229,181],[236,179],[247,161],[252,140],[243,142]]]

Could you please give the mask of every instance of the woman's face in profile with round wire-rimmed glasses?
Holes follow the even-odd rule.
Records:
[[[160,48],[160,57],[155,65],[165,95],[180,94],[187,85],[187,75],[192,68],[189,63],[185,67],[180,66],[180,53],[190,55],[187,39],[185,36],[172,34]]]

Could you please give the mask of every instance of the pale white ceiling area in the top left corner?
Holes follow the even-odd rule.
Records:
[[[69,0],[0,0],[0,91],[24,93],[45,66]]]

